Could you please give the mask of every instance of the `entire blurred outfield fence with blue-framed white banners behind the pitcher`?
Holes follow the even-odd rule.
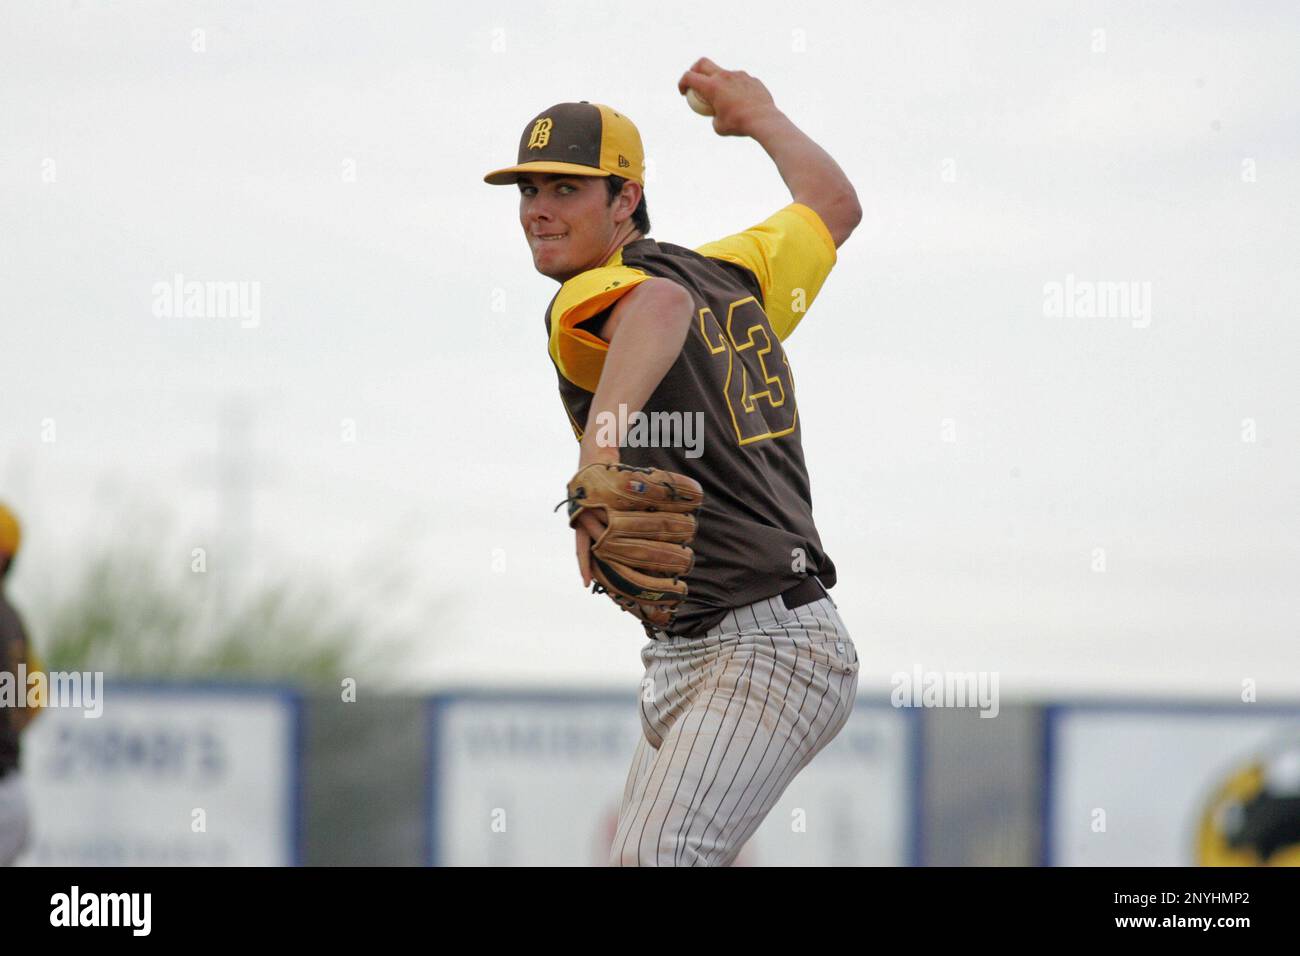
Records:
[[[634,695],[108,682],[25,737],[38,865],[603,865]],[[863,695],[738,865],[1300,865],[1300,705]]]

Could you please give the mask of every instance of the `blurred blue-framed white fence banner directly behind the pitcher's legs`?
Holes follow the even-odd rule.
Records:
[[[641,734],[627,695],[436,697],[434,865],[604,865]],[[902,866],[919,858],[919,711],[859,700],[738,866]]]

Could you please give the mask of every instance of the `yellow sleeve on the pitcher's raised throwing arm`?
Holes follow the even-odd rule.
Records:
[[[790,203],[757,226],[696,251],[754,273],[763,290],[763,311],[783,341],[794,332],[837,259],[831,230],[803,203]]]

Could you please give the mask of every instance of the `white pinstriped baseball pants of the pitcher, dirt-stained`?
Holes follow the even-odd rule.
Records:
[[[736,607],[702,637],[641,650],[641,737],[612,866],[728,866],[844,727],[858,652],[829,597]]]

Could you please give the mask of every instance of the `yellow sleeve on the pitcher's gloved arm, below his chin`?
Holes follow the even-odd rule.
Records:
[[[602,265],[560,286],[550,316],[550,352],[560,375],[581,389],[595,392],[610,343],[577,326],[610,308],[647,278],[646,273],[627,265]]]

